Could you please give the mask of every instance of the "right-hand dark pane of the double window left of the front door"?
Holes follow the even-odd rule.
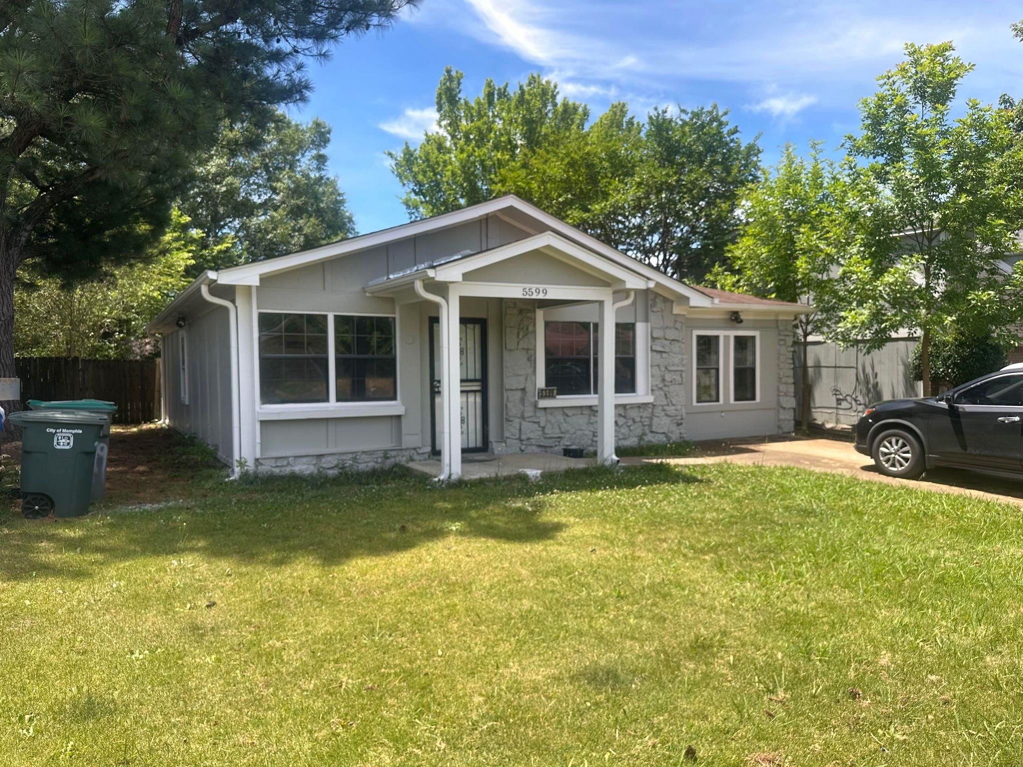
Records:
[[[338,402],[398,398],[394,317],[335,315],[333,351]]]

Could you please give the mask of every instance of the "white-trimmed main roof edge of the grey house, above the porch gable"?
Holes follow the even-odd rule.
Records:
[[[320,245],[309,251],[278,256],[264,261],[256,261],[251,264],[227,267],[226,269],[221,269],[216,272],[204,272],[188,287],[186,287],[171,303],[170,306],[161,312],[161,314],[147,325],[147,328],[155,328],[166,324],[168,321],[172,321],[176,316],[176,311],[180,304],[187,297],[194,294],[201,284],[211,285],[219,283],[222,285],[258,285],[260,284],[260,277],[262,276],[286,272],[292,269],[298,269],[320,261],[327,261],[329,259],[336,259],[359,251],[379,247],[381,245],[386,245],[408,237],[414,237],[419,234],[439,231],[441,229],[482,219],[485,216],[501,216],[502,213],[506,214],[513,210],[530,219],[533,219],[536,222],[539,222],[541,228],[536,231],[530,231],[529,227],[524,226],[521,221],[517,220],[513,222],[514,225],[529,231],[531,235],[542,234],[545,231],[542,227],[546,227],[547,230],[560,235],[561,238],[567,239],[576,245],[581,245],[592,254],[604,257],[617,267],[624,268],[639,275],[648,280],[654,289],[671,296],[684,298],[691,307],[718,310],[735,310],[743,308],[750,309],[756,307],[765,311],[773,310],[781,312],[785,310],[787,313],[809,311],[809,307],[801,304],[787,304],[785,302],[758,299],[753,296],[744,296],[742,294],[713,290],[705,287],[695,287],[676,279],[672,279],[664,272],[648,266],[647,264],[637,261],[621,251],[612,247],[596,237],[565,223],[561,219],[551,216],[521,197],[514,194],[505,194],[503,196],[487,200],[486,202],[468,206],[466,208],[461,208],[457,211],[443,213],[427,219],[410,221],[407,224],[393,226],[388,229],[381,229],[380,231],[370,232],[368,234],[361,234],[356,237],[350,237],[336,242],[328,242],[327,244]],[[481,254],[479,252],[466,254],[465,258],[480,255]],[[461,258],[460,255],[456,256],[452,254],[450,259],[438,260],[435,263],[435,266],[440,266],[448,261],[459,258]],[[428,268],[427,265],[416,266],[413,271],[420,271],[424,268]],[[388,278],[393,279],[398,276],[399,275],[392,274],[388,275]],[[152,332],[151,329],[148,331]]]

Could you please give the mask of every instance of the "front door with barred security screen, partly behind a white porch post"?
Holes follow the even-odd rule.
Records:
[[[487,450],[487,321],[465,319],[458,322],[458,359],[461,404],[461,451]],[[430,411],[431,443],[440,452],[438,426],[441,422],[441,343],[440,322],[430,318],[430,386],[434,406]]]

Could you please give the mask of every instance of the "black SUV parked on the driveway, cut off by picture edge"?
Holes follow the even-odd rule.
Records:
[[[872,405],[856,423],[856,450],[889,477],[932,466],[1023,472],[1023,369],[1005,369],[938,397]]]

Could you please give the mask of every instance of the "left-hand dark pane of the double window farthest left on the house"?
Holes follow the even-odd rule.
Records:
[[[259,315],[260,401],[327,402],[327,316]]]

